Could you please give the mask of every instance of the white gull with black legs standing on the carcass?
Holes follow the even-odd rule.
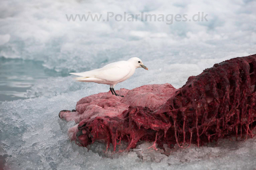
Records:
[[[98,68],[95,70],[90,70],[86,72],[71,72],[69,74],[80,76],[74,78],[78,82],[95,82],[99,84],[108,84],[110,85],[110,91],[112,92],[112,94],[115,94],[116,96],[121,96],[116,94],[114,87],[119,82],[123,82],[124,80],[130,78],[130,76],[134,74],[135,69],[139,67],[148,70],[148,68],[142,63],[141,59],[139,59],[138,57],[132,57],[127,61],[110,63],[102,68]]]

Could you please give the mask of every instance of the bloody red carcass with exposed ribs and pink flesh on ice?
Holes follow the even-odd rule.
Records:
[[[101,141],[115,149],[120,140],[128,142],[127,150],[140,140],[199,146],[226,135],[254,135],[255,85],[256,55],[251,55],[215,64],[188,78],[179,90],[164,84],[121,89],[124,98],[96,94],[81,99],[77,111],[59,115],[79,123],[69,129],[70,139],[79,146]],[[95,106],[94,113],[86,111],[89,105]]]

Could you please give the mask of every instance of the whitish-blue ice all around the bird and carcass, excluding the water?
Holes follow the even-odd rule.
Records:
[[[102,84],[74,82],[68,72],[82,72],[139,57],[149,71],[137,69],[116,90],[164,83],[180,88],[189,76],[200,74],[214,63],[255,54],[255,8],[256,2],[252,0],[1,0],[0,57],[22,59],[24,65],[28,61],[42,62],[42,72],[60,73],[35,78],[35,83],[25,92],[28,99],[0,104],[0,155],[8,154],[5,168],[255,168],[255,137],[246,141],[222,139],[218,145],[199,148],[175,147],[170,156],[161,150],[148,152],[146,148],[152,145],[148,143],[136,148],[146,150],[143,153],[134,150],[113,154],[102,151],[103,144],[94,143],[88,150],[70,143],[67,131],[75,123],[66,123],[58,117],[60,110],[74,109],[82,97],[109,90]],[[174,21],[167,25],[158,21],[118,22],[113,18],[108,22],[102,21],[104,18],[98,22],[66,19],[66,14],[140,14],[142,11],[157,15],[188,14],[190,18],[204,12],[208,14],[208,22]],[[18,68],[9,69],[6,68],[8,76]],[[33,69],[31,75],[37,72]],[[156,74],[157,80],[153,78]]]

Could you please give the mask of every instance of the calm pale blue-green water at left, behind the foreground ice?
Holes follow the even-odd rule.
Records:
[[[26,91],[38,79],[65,76],[42,66],[42,61],[0,57],[0,101],[25,99]]]

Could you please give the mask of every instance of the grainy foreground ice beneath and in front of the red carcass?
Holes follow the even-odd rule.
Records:
[[[256,139],[222,139],[217,144],[189,149],[154,151],[142,143],[131,152],[105,152],[94,143],[87,150],[70,143],[68,127],[58,117],[63,107],[73,109],[84,96],[80,90],[4,102],[0,114],[0,154],[8,154],[6,169],[252,169],[256,166]],[[126,146],[126,144],[124,144]],[[141,149],[141,150],[140,150]],[[111,149],[110,149],[111,150]],[[171,152],[170,152],[171,151]],[[170,155],[170,156],[166,156]]]

